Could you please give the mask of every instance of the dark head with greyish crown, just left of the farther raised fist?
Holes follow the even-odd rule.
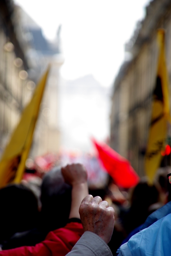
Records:
[[[60,168],[56,167],[44,176],[41,225],[47,232],[66,225],[71,208],[71,191],[72,187],[64,182]]]

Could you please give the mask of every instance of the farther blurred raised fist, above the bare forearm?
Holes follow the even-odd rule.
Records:
[[[61,168],[62,175],[66,183],[74,186],[76,184],[87,182],[87,172],[85,167],[80,163],[73,163]]]

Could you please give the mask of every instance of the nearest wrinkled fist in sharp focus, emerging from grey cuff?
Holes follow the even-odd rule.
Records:
[[[87,195],[79,209],[83,229],[99,235],[106,243],[109,243],[114,227],[114,209],[109,207],[101,197]]]

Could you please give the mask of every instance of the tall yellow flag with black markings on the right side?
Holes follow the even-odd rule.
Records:
[[[170,120],[169,82],[166,68],[164,29],[158,30],[158,67],[156,86],[153,92],[152,117],[149,128],[148,145],[145,155],[145,170],[152,184],[157,168],[160,166],[167,137],[167,121]]]

